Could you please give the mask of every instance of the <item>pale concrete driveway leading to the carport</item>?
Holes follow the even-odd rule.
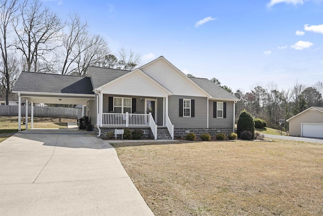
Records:
[[[1,215],[153,215],[115,149],[68,129],[0,143],[0,194]]]

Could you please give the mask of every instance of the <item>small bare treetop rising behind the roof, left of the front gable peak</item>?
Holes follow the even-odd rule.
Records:
[[[135,54],[131,50],[128,52],[126,49],[121,48],[119,51],[118,69],[133,70],[140,64],[140,55]]]

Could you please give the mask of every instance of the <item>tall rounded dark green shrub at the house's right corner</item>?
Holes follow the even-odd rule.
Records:
[[[252,115],[245,110],[243,110],[240,113],[239,119],[237,122],[237,134],[240,139],[242,139],[240,136],[241,136],[241,133],[244,131],[250,132],[251,139],[254,138],[254,121],[253,121]]]

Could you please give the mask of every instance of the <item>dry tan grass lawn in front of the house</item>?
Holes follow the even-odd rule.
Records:
[[[113,144],[155,215],[323,215],[323,145]]]

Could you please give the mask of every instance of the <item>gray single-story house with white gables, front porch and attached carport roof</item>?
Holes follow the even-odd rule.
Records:
[[[239,101],[206,78],[186,76],[163,56],[132,71],[90,66],[86,77],[22,72],[13,92],[32,103],[85,105],[98,136],[129,127],[154,139],[228,135]]]

